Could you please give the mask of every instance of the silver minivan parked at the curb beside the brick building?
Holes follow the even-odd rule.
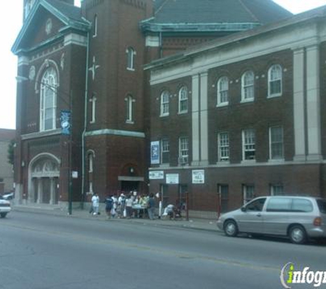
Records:
[[[258,197],[242,208],[222,214],[218,228],[226,236],[239,233],[287,236],[303,244],[326,238],[326,199],[316,197]]]

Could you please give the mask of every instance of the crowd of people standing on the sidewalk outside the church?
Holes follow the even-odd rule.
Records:
[[[119,197],[117,195],[106,197],[104,203],[108,218],[144,218],[148,215],[150,220],[154,219],[154,194],[145,196],[144,194],[137,195],[133,192],[130,192],[128,195],[121,193]],[[100,198],[97,193],[94,193],[91,199],[90,214],[100,214],[99,207]]]

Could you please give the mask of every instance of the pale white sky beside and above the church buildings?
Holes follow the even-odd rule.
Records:
[[[108,0],[106,0],[108,1]],[[200,1],[200,0],[198,0]],[[263,0],[261,0],[263,1]],[[274,0],[290,12],[298,14],[326,5],[326,0]],[[17,58],[11,52],[16,36],[19,34],[23,22],[23,0],[10,0],[5,2],[6,9],[0,10],[1,35],[0,63],[0,128],[14,129],[16,127],[16,75]]]

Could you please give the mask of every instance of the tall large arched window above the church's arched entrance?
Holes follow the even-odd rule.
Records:
[[[56,95],[58,77],[48,68],[40,81],[40,131],[56,129]]]

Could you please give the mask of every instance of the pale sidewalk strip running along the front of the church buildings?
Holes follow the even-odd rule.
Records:
[[[56,205],[12,205],[12,212],[34,212],[36,214],[51,214],[55,216],[65,216],[68,218],[84,218],[92,219],[96,221],[106,221],[106,222],[122,222],[122,223],[141,223],[143,225],[154,225],[161,227],[182,227],[187,229],[198,229],[205,231],[216,231],[220,232],[216,227],[216,220],[208,220],[202,218],[189,218],[189,221],[185,219],[181,220],[169,220],[164,218],[156,218],[155,220],[150,220],[148,218],[111,218],[107,219],[105,212],[101,212],[100,215],[93,216],[89,214],[88,210],[73,209],[72,214],[69,215],[67,210],[62,210]]]

